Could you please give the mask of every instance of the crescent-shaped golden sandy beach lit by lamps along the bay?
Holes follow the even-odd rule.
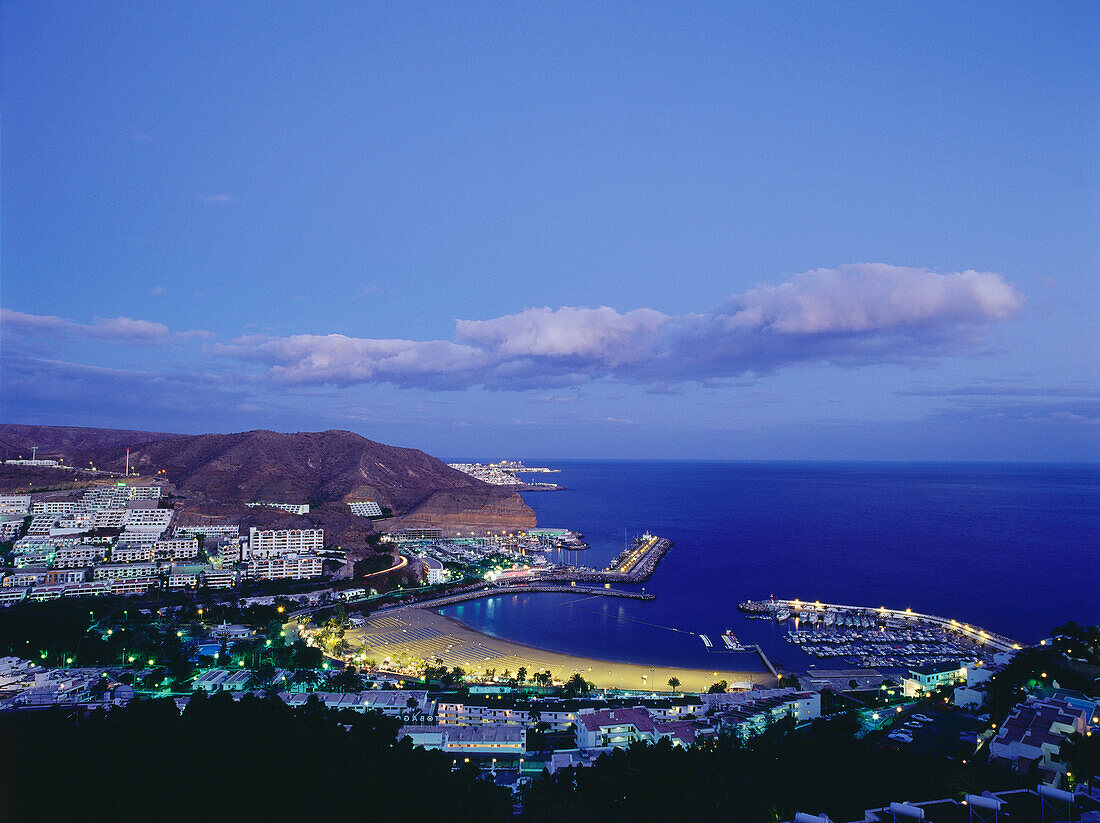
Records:
[[[679,690],[689,692],[706,691],[711,683],[718,680],[725,680],[730,685],[776,684],[776,678],[765,670],[755,652],[716,652],[714,669],[623,663],[501,640],[475,632],[452,617],[415,606],[372,615],[365,627],[348,632],[346,639],[378,663],[387,658],[396,661],[400,656],[405,660],[419,658],[432,665],[442,660],[446,666],[461,666],[470,672],[495,669],[498,678],[505,670],[514,677],[524,667],[528,672],[549,669],[554,679],[562,681],[580,672],[585,680],[600,688],[669,691],[670,678],[679,679]],[[744,662],[746,669],[728,668],[737,662]],[[725,667],[718,667],[718,663],[725,663]]]

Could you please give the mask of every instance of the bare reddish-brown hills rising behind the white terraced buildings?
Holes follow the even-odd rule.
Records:
[[[163,471],[177,490],[208,503],[309,503],[333,508],[374,500],[396,515],[453,528],[522,528],[535,515],[514,492],[455,471],[417,449],[351,431],[161,435],[112,429],[0,425],[0,445],[38,447],[67,462],[122,471]],[[364,523],[366,523],[364,520]]]

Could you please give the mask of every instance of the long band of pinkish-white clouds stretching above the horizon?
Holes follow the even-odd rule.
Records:
[[[392,383],[544,393],[603,380],[674,394],[686,382],[722,386],[738,375],[799,363],[859,366],[957,354],[1022,307],[1023,297],[999,274],[855,264],[758,286],[693,315],[543,307],[458,320],[455,341],[252,334],[208,351],[253,364],[253,380],[283,385]],[[157,343],[211,337],[172,334],[163,323],[124,317],[77,323],[4,309],[0,321],[6,338],[16,339]]]

